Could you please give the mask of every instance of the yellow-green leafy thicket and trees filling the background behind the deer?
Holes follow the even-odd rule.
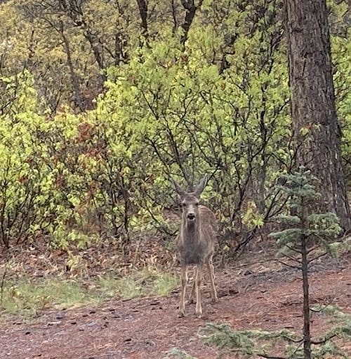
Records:
[[[168,179],[205,172],[230,248],[282,210],[275,184],[295,163],[282,1],[1,2],[2,245],[171,238]],[[328,5],[350,182],[350,12]]]

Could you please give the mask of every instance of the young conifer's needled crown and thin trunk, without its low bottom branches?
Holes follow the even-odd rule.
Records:
[[[286,229],[271,233],[282,246],[286,257],[298,264],[303,276],[303,353],[305,359],[311,358],[310,336],[310,301],[308,284],[308,266],[321,255],[315,255],[315,250],[333,252],[335,246],[331,240],[335,239],[341,231],[338,217],[335,213],[312,213],[316,201],[322,195],[316,191],[317,178],[309,170],[300,168],[298,172],[284,175],[285,184],[280,189],[289,196],[290,215],[280,215],[280,221]],[[297,257],[296,257],[297,255]],[[314,255],[311,257],[310,255]],[[324,253],[322,253],[324,255]]]

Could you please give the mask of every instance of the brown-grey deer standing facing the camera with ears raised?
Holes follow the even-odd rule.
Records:
[[[178,317],[185,316],[185,290],[187,285],[187,269],[195,265],[194,282],[189,302],[194,302],[196,292],[195,314],[202,316],[201,306],[201,279],[204,266],[207,266],[211,280],[211,297],[214,303],[218,302],[215,286],[213,267],[213,255],[217,243],[217,219],[216,215],[205,205],[200,205],[200,196],[208,182],[207,175],[201,179],[197,188],[192,192],[185,191],[180,185],[171,179],[178,193],[182,216],[178,233],[178,253],[181,266],[181,291]]]

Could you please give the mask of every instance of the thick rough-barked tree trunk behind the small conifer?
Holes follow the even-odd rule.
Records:
[[[326,0],[284,0],[293,131],[298,165],[321,181],[321,208],[351,228],[341,167]]]

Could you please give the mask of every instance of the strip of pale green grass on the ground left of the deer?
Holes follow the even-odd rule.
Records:
[[[43,309],[72,308],[111,298],[161,297],[177,286],[178,278],[173,273],[164,273],[153,266],[124,278],[98,276],[88,285],[79,279],[8,279],[1,294],[0,314],[19,314],[30,318]]]

